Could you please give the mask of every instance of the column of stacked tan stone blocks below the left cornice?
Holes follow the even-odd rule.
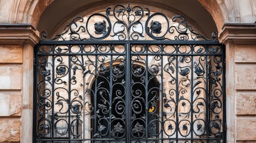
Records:
[[[22,45],[1,45],[0,142],[20,141]]]

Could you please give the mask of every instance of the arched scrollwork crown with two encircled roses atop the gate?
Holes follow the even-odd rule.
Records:
[[[162,13],[150,13],[148,8],[116,5],[106,8],[106,14],[95,13],[87,17],[75,17],[64,28],[64,32],[53,39],[47,39],[47,32],[41,33],[41,40],[89,41],[102,39],[143,40],[146,35],[153,40],[198,41],[209,40],[195,32],[180,15],[171,19]],[[110,38],[109,38],[110,37]],[[217,39],[217,33],[212,33]]]

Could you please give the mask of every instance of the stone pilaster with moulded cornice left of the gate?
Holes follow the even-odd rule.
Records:
[[[33,46],[30,24],[0,24],[0,142],[32,142]]]

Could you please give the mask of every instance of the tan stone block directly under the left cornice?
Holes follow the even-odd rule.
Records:
[[[22,63],[22,48],[20,45],[1,45],[0,63]]]

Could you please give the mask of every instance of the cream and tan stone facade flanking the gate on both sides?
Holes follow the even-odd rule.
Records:
[[[36,27],[53,1],[0,0],[0,142],[32,142],[33,45],[39,35],[31,26],[6,24]],[[198,1],[226,44],[227,142],[256,142],[256,0]]]

